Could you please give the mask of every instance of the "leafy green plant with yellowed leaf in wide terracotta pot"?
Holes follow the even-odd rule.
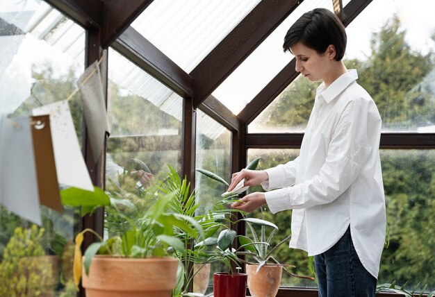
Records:
[[[204,237],[204,231],[195,219],[170,211],[168,205],[177,198],[177,192],[163,192],[161,183],[165,181],[145,189],[125,172],[118,182],[110,183],[106,192],[97,187],[95,192],[76,188],[61,192],[63,203],[81,206],[83,215],[106,207],[107,216],[112,218],[112,225],[107,224],[107,239],[90,229],[76,236],[76,285],[83,274],[82,285],[88,297],[170,297],[179,266],[170,251],[185,249],[174,230],[199,238]],[[100,241],[86,249],[82,260],[80,246],[85,232],[92,232]]]

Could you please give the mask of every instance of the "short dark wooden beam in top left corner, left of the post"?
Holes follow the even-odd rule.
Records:
[[[84,28],[99,28],[103,24],[103,2],[100,0],[45,0]]]

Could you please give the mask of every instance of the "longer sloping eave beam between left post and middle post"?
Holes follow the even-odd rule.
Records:
[[[192,98],[193,78],[133,27],[127,28],[112,46],[183,98]]]

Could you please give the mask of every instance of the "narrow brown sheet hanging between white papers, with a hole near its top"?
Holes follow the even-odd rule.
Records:
[[[31,117],[31,131],[40,204],[63,212],[51,141],[50,116]]]

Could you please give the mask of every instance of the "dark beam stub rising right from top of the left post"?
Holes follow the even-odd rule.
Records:
[[[104,0],[101,44],[108,47],[153,0]]]

